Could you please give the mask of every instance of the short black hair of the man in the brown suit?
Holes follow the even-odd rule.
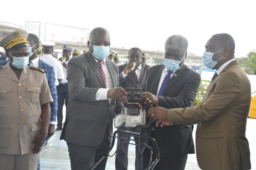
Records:
[[[235,53],[235,41],[230,34],[222,33],[222,34],[215,34],[211,37],[212,40],[218,42],[220,48],[230,48],[230,53]]]

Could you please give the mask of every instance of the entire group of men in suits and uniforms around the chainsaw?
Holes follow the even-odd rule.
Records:
[[[128,102],[125,88],[141,88],[154,123],[148,128],[119,127],[153,137],[160,149],[155,170],[184,170],[195,153],[193,124],[197,125],[196,153],[203,170],[249,170],[250,150],[245,137],[250,107],[250,82],[234,59],[229,34],[207,41],[202,60],[216,69],[201,105],[191,107],[201,77],[184,64],[188,41],[181,35],[166,39],[163,64],[150,67],[148,54],[134,47],[128,63],[117,65],[120,54],[110,48],[110,34],[94,28],[88,51],[62,47],[53,56],[52,41],[17,30],[0,41],[0,169],[40,170],[39,153],[55,130],[67,142],[72,170],[88,170],[108,150],[113,118]],[[131,71],[131,68],[134,68]],[[63,106],[66,119],[63,125]],[[119,135],[116,170],[128,169],[130,135]],[[136,144],[138,144],[138,140]],[[122,144],[127,142],[126,144]],[[153,147],[151,141],[143,141]],[[144,170],[149,150],[136,146],[135,169]],[[97,170],[104,170],[108,156]],[[113,167],[114,169],[114,167]]]

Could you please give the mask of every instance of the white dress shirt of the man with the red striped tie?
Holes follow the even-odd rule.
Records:
[[[93,58],[97,64],[99,65],[98,63],[98,60]],[[98,101],[98,100],[106,100],[108,99],[109,103],[111,102],[112,99],[108,98],[107,95],[108,95],[108,90],[113,88],[113,81],[112,81],[112,77],[111,77],[111,74],[110,74],[110,71],[108,70],[108,67],[106,65],[106,59],[103,60],[104,64],[102,65],[102,68],[103,68],[103,71],[106,75],[106,83],[107,83],[107,87],[106,88],[99,88],[99,90],[96,92],[96,96],[95,96],[95,100]]]

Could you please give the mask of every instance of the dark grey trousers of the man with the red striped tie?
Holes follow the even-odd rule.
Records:
[[[108,150],[111,143],[108,136],[110,136],[109,125],[106,127],[102,144],[99,147],[86,147],[67,142],[71,170],[89,170],[103,156],[103,153]],[[105,170],[107,160],[108,156],[101,161],[95,170]]]

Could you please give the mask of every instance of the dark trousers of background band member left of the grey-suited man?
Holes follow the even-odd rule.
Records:
[[[68,86],[67,83],[63,85],[63,83],[60,83],[57,88],[57,94],[58,94],[58,112],[57,112],[57,120],[58,120],[58,127],[62,127],[62,120],[63,120],[63,105],[65,100],[66,105],[66,113],[67,113],[67,107],[68,107]]]

